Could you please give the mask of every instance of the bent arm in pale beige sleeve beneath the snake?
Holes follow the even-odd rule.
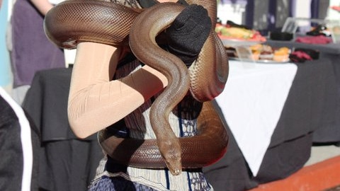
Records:
[[[120,49],[81,42],[72,71],[68,116],[74,134],[86,138],[138,108],[167,85],[163,74],[143,66],[111,81]]]

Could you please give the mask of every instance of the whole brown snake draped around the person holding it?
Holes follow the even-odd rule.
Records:
[[[212,26],[215,26],[216,1],[192,0],[188,3],[207,8]],[[173,175],[181,173],[182,167],[198,168],[217,161],[225,154],[228,142],[220,117],[208,101],[223,91],[229,70],[227,54],[215,32],[210,31],[198,60],[189,70],[181,59],[158,47],[155,40],[183,8],[179,4],[162,3],[142,10],[106,1],[69,0],[58,4],[45,16],[45,33],[60,47],[75,48],[79,42],[86,41],[122,46],[130,40],[130,48],[136,57],[166,76],[168,86],[150,109],[156,140],[111,138],[103,132],[99,138],[101,143],[114,139],[111,148],[105,149],[107,145],[101,145],[105,150],[113,151],[111,156],[117,161],[141,168],[164,168],[166,164]],[[196,100],[205,102],[198,116],[199,134],[178,138],[168,117],[189,90]],[[131,149],[133,147],[136,148]],[[126,148],[125,152],[119,154],[119,148]],[[135,152],[126,162],[129,149]],[[142,154],[145,154],[143,158]]]

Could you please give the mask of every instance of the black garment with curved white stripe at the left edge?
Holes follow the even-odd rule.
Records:
[[[0,87],[0,190],[38,190],[38,129]]]

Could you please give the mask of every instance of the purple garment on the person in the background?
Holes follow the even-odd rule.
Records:
[[[17,0],[13,6],[11,62],[14,87],[30,85],[36,71],[65,66],[62,50],[45,35],[43,19],[28,0]]]

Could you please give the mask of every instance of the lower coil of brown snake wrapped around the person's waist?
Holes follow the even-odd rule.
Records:
[[[227,151],[228,134],[212,102],[203,103],[198,115],[198,134],[180,137],[183,168],[202,168],[218,161]],[[165,168],[156,139],[124,139],[111,136],[105,129],[99,142],[111,158],[136,168]]]

